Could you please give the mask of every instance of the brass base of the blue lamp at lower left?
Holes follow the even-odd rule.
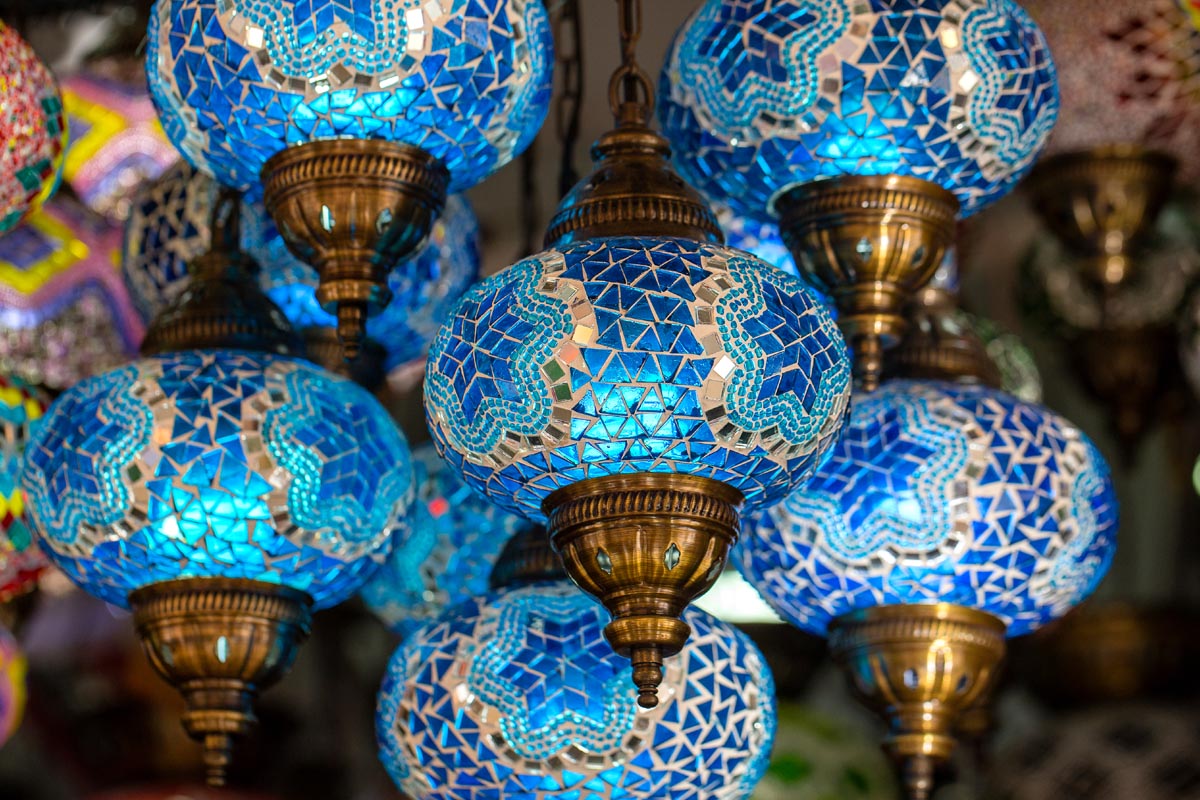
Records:
[[[184,729],[204,745],[209,786],[224,786],[234,738],[257,722],[254,698],[308,636],[312,599],[258,581],[187,578],[138,589],[130,604],[150,663],[187,703]]]

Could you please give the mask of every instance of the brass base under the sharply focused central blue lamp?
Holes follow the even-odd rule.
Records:
[[[716,582],[738,539],[742,493],[707,477],[593,477],[546,498],[563,565],[613,616],[605,638],[634,662],[637,703],[658,705],[662,660],[691,628],[684,608]]]

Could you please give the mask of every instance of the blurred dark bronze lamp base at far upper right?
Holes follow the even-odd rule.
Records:
[[[1027,185],[1050,230],[1080,255],[1085,276],[1117,287],[1171,193],[1176,161],[1136,146],[1067,152],[1038,162]]]

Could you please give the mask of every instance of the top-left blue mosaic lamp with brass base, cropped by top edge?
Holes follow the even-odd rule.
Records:
[[[533,140],[553,61],[541,0],[160,0],[146,68],[188,161],[262,182],[356,356],[446,191]]]

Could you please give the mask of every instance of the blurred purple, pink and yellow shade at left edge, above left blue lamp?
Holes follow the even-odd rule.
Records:
[[[58,390],[137,353],[119,247],[118,229],[66,197],[0,237],[0,371]]]

